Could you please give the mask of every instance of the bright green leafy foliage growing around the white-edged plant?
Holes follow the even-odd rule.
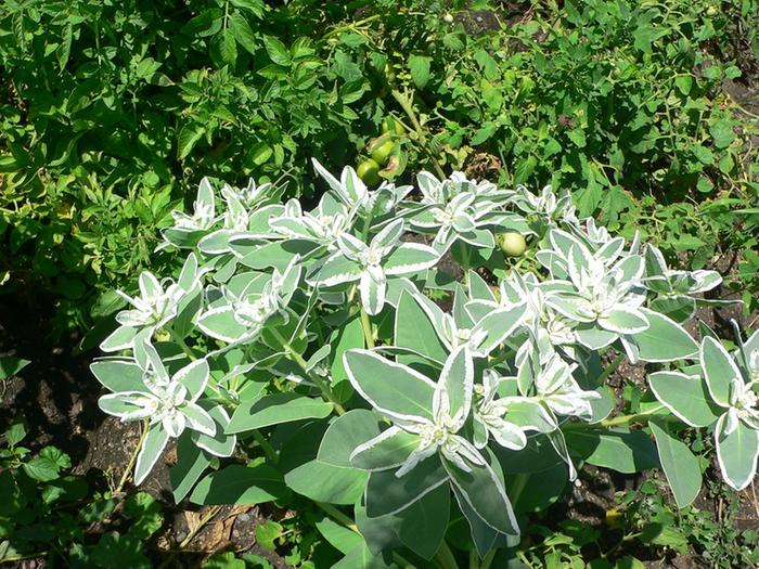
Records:
[[[51,335],[95,325],[82,347],[94,346],[118,308],[106,292],[170,262],[153,253],[157,229],[203,176],[318,197],[310,157],[358,164],[393,115],[404,128],[386,177],[464,169],[570,189],[581,215],[642,231],[671,262],[719,261],[751,312],[759,117],[731,93],[756,100],[758,74],[757,0],[5,0],[0,294],[52,303]],[[29,478],[21,464],[40,455],[9,450],[4,467]],[[55,461],[57,477],[67,465]],[[34,484],[57,484],[30,478],[18,507],[34,504]],[[668,515],[646,495],[653,509],[621,502],[627,528]],[[51,523],[50,503],[27,521]],[[674,519],[696,549],[747,558],[723,526]],[[587,553],[592,536],[573,531],[533,536],[529,555]]]

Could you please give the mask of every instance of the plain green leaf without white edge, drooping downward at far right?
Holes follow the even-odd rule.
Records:
[[[654,418],[648,422],[648,426],[656,439],[661,468],[672,489],[674,501],[679,507],[683,508],[696,499],[702,488],[698,458],[685,443],[668,430],[664,422],[659,423]]]

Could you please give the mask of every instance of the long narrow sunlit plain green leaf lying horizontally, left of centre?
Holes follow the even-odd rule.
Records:
[[[294,392],[263,396],[234,410],[226,432],[243,432],[280,423],[305,418],[324,418],[332,413],[332,403]]]

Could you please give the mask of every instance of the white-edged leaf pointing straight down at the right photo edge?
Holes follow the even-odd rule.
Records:
[[[728,414],[722,415],[715,427],[717,462],[722,478],[735,490],[743,490],[754,480],[759,457],[759,432],[746,426],[743,421],[730,435],[724,434]]]

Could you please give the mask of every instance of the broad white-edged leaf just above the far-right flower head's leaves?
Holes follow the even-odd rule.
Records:
[[[690,358],[698,345],[680,324],[662,314],[641,308],[648,319],[648,328],[633,336],[640,358],[646,362],[671,362]]]

